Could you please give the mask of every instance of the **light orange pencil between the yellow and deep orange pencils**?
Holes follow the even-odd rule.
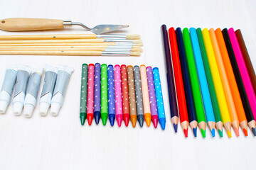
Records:
[[[218,41],[217,41],[215,31],[213,30],[213,28],[211,28],[209,30],[209,34],[210,34],[210,40],[213,45],[213,51],[214,51],[215,59],[217,62],[218,70],[220,72],[220,79],[223,84],[225,98],[226,98],[226,101],[228,104],[228,111],[230,114],[231,125],[233,126],[233,129],[235,130],[235,135],[239,136],[238,114],[236,113],[236,110],[235,110],[235,103],[233,101],[233,96],[231,94],[230,84],[228,83],[228,77],[225,72],[225,67],[224,67],[223,60],[222,60],[222,57],[220,54],[220,48],[218,46]]]

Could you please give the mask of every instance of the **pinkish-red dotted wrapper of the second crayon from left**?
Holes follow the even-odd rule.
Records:
[[[89,64],[88,69],[88,86],[87,86],[87,114],[93,113],[94,103],[94,64]]]

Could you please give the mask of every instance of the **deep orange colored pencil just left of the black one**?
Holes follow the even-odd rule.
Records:
[[[230,59],[228,57],[228,51],[225,46],[225,41],[223,38],[223,33],[221,32],[220,28],[215,30],[215,34],[218,40],[218,45],[220,47],[220,53],[223,60],[223,64],[225,67],[225,72],[227,74],[228,83],[230,84],[230,90],[231,94],[233,96],[233,101],[235,103],[235,109],[238,114],[238,120],[240,123],[240,127],[242,128],[242,131],[244,132],[245,136],[247,136],[247,119],[245,116],[245,110],[242,106],[241,97],[238,91],[238,85],[235,81],[235,75],[233,73],[233,69],[230,63]]]

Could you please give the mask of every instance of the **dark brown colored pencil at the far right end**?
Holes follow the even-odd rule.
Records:
[[[245,61],[245,65],[247,67],[247,71],[250,77],[250,80],[252,81],[252,88],[255,91],[255,95],[256,95],[256,76],[255,76],[255,70],[253,69],[252,66],[252,61],[250,60],[250,56],[249,53],[247,51],[246,45],[245,45],[245,41],[242,38],[242,33],[241,30],[236,30],[235,31],[235,35],[238,38],[238,43],[242,52],[242,57]]]

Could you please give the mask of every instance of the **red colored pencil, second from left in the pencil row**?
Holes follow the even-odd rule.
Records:
[[[171,44],[171,59],[174,66],[174,79],[176,85],[176,94],[178,99],[178,113],[181,121],[181,128],[186,137],[188,137],[188,111],[186,106],[185,92],[183,89],[183,79],[181,74],[181,64],[178,57],[178,45],[176,33],[173,27],[169,29],[169,40]]]

